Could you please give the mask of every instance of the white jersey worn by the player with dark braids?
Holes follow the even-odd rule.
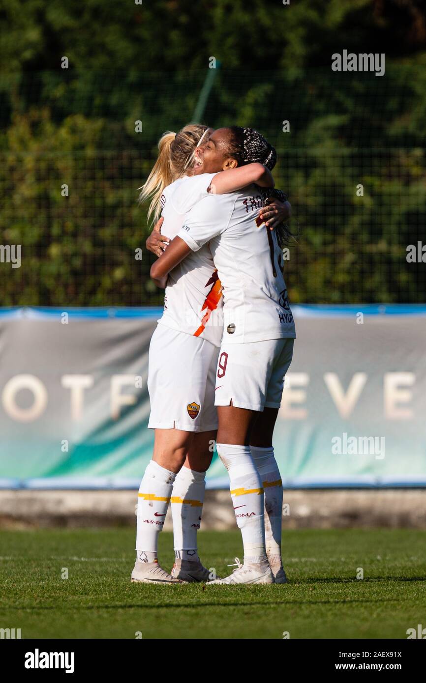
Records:
[[[227,344],[296,336],[282,251],[275,232],[258,219],[262,203],[254,185],[228,195],[207,195],[178,232],[196,253],[209,242],[224,288]]]

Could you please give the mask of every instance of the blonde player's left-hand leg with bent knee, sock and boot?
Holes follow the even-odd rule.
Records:
[[[132,581],[182,583],[159,566],[158,535],[163,529],[176,473],[185,461],[193,436],[192,432],[182,430],[155,430],[154,453],[137,497],[137,557]]]

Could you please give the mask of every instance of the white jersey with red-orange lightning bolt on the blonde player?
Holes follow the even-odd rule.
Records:
[[[164,218],[161,234],[173,239],[188,212],[202,197],[215,173],[179,178],[161,195]],[[165,288],[164,312],[158,321],[179,332],[207,339],[220,346],[223,333],[222,285],[209,245],[190,253],[174,268]]]

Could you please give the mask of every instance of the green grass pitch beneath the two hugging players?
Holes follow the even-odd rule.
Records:
[[[242,558],[237,530],[199,540],[220,576]],[[285,531],[289,583],[251,587],[131,583],[134,541],[127,528],[1,531],[0,628],[23,638],[405,639],[426,623],[426,531]],[[159,546],[170,570],[172,534]]]

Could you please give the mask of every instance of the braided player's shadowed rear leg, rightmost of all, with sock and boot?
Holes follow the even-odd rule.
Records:
[[[277,417],[278,408],[264,408],[263,413],[258,413],[250,436],[250,451],[265,492],[267,558],[274,574],[274,582],[287,583],[281,557],[282,481],[272,446]]]

